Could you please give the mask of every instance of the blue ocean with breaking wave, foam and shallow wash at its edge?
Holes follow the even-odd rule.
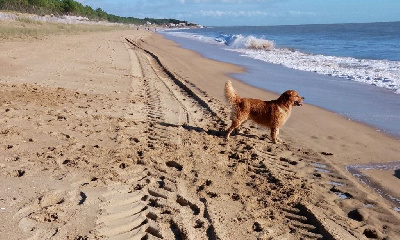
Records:
[[[400,139],[400,22],[209,27],[160,32],[246,68],[233,77],[360,121]]]

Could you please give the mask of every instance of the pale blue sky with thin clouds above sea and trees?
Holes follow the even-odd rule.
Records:
[[[123,17],[174,18],[205,26],[400,21],[400,0],[76,0]]]

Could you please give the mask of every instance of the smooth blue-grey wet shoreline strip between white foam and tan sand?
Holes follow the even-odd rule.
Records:
[[[379,89],[344,78],[287,68],[283,65],[238,57],[237,53],[193,40],[161,34],[182,47],[200,52],[217,61],[229,62],[246,68],[246,74],[232,77],[270,92],[295,88],[306,97],[306,102],[336,112],[344,118],[372,126],[400,140],[399,96],[387,89]],[[279,79],[279,81],[275,80]],[[351,94],[347,94],[350,92]],[[373,101],[371,99],[380,99]]]

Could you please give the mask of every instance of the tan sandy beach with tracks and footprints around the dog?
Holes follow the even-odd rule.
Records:
[[[243,71],[136,29],[0,41],[0,238],[399,239],[400,141],[307,96],[281,144],[226,141],[227,80],[277,97]]]

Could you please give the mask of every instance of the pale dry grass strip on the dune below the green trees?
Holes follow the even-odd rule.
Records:
[[[0,20],[0,39],[40,39],[49,35],[69,35],[121,29],[129,29],[129,26],[49,23],[27,17],[18,17],[15,21]]]

